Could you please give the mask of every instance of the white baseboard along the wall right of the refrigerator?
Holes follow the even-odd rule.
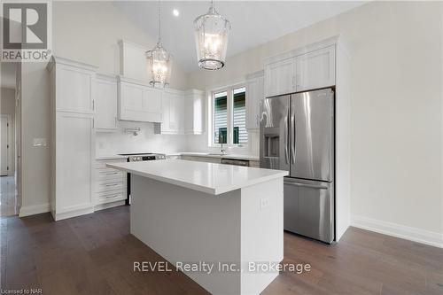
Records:
[[[437,232],[416,229],[397,223],[378,221],[363,216],[351,216],[351,225],[355,228],[368,229],[380,234],[392,237],[400,237],[410,241],[443,248],[443,234]]]

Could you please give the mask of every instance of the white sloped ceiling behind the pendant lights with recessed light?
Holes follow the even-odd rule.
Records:
[[[267,43],[365,2],[335,1],[215,1],[215,9],[229,19],[227,56]],[[157,38],[157,1],[119,1],[116,7],[136,25]],[[193,21],[209,8],[208,1],[162,1],[161,39],[185,72],[198,68]],[[179,17],[172,13],[178,9]],[[135,40],[132,40],[135,41]]]

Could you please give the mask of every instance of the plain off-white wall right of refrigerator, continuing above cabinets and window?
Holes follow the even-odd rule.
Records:
[[[189,84],[241,82],[263,58],[345,36],[352,54],[351,213],[429,233],[443,245],[442,33],[441,3],[372,2],[228,58],[220,71],[193,72]]]

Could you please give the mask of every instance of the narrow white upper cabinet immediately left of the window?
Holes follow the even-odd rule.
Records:
[[[198,89],[184,92],[184,134],[202,134],[204,97]]]

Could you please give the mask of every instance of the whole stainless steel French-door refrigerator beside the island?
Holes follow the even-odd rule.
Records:
[[[260,167],[284,178],[284,229],[331,243],[335,235],[334,91],[262,100]]]

